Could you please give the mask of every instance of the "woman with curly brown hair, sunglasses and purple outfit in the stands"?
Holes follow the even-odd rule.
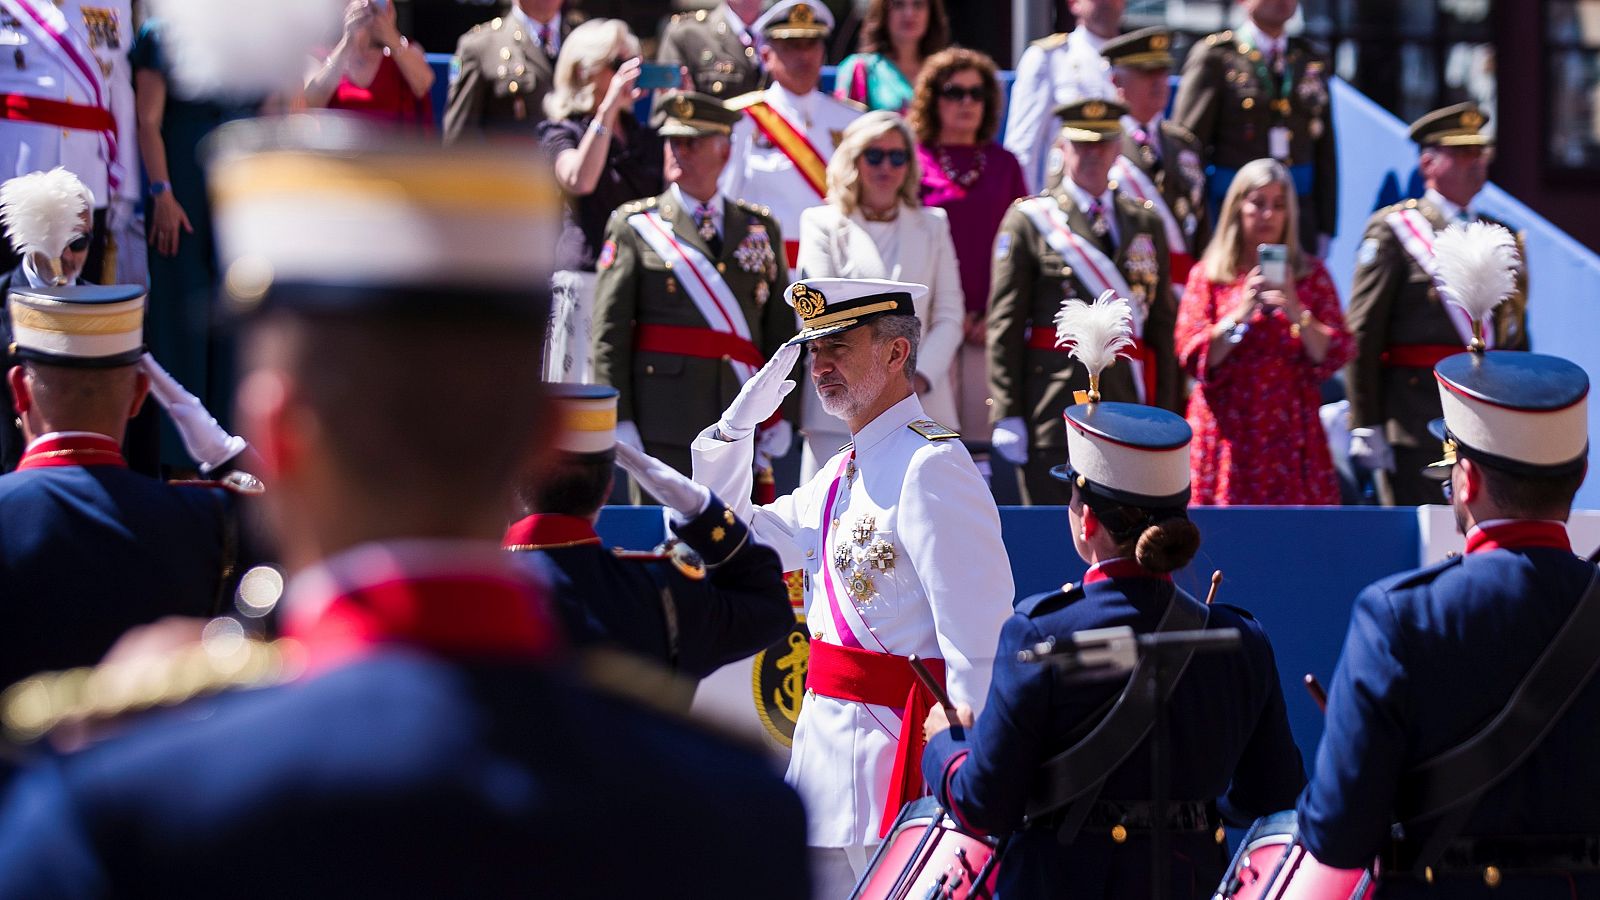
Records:
[[[922,202],[949,213],[966,298],[954,378],[965,434],[989,429],[984,320],[992,248],[1005,211],[1027,195],[1022,167],[995,141],[1002,106],[994,59],[973,50],[946,50],[923,64],[909,114],[922,163]]]

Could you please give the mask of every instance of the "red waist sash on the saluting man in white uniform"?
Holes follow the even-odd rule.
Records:
[[[942,685],[944,660],[923,660],[923,665]],[[822,641],[811,642],[805,685],[822,697],[899,711],[901,737],[894,746],[894,770],[890,773],[890,790],[883,798],[883,815],[878,818],[878,838],[886,836],[899,809],[923,794],[922,724],[933,708],[933,697],[917,682],[906,657]]]

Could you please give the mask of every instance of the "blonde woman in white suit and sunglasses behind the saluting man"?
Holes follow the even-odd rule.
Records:
[[[950,368],[962,346],[962,275],[944,210],[917,197],[922,173],[910,127],[886,110],[858,119],[827,163],[827,205],[800,213],[795,279],[890,279],[928,285],[917,299],[922,348],[914,378],[923,410],[955,424]],[[850,440],[850,429],[822,412],[816,391],[800,400],[805,450],[800,479],[811,477]]]

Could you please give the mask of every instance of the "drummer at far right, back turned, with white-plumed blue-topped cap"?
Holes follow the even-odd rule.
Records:
[[[1472,322],[1512,293],[1504,229],[1451,227],[1435,253]],[[1482,341],[1434,378],[1443,460],[1429,471],[1467,548],[1357,596],[1301,833],[1333,866],[1378,857],[1381,898],[1600,897],[1600,585],[1565,525],[1589,378]]]

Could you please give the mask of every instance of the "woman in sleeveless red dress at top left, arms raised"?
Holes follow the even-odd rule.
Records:
[[[434,69],[422,46],[400,35],[394,0],[350,0],[344,35],[306,80],[306,104],[434,130]]]

